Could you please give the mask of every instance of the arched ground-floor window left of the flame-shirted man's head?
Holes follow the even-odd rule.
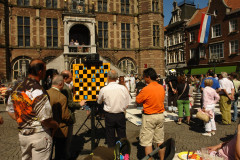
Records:
[[[19,79],[27,76],[27,69],[29,67],[30,59],[21,58],[13,63],[12,78]]]

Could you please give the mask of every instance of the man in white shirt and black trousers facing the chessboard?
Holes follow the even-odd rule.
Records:
[[[98,96],[97,102],[104,102],[106,141],[108,147],[116,144],[115,131],[118,139],[126,138],[126,119],[124,112],[129,104],[129,92],[125,86],[116,82],[118,73],[115,70],[108,72],[109,84],[103,87]]]

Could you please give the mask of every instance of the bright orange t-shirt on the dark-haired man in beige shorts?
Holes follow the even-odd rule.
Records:
[[[146,114],[162,113],[164,109],[165,90],[157,82],[151,82],[144,87],[136,97],[137,103],[143,103]]]

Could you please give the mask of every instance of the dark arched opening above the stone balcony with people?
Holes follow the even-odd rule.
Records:
[[[90,31],[83,24],[76,24],[72,26],[69,31],[69,41],[78,41],[79,45],[90,45]]]

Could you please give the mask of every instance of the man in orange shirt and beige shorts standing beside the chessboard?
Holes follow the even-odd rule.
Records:
[[[142,128],[140,130],[140,145],[145,147],[145,154],[152,152],[152,143],[160,146],[164,141],[164,98],[165,90],[157,79],[153,68],[143,71],[143,77],[148,84],[136,97],[137,103],[143,103]],[[159,157],[164,159],[164,150],[159,151]]]

